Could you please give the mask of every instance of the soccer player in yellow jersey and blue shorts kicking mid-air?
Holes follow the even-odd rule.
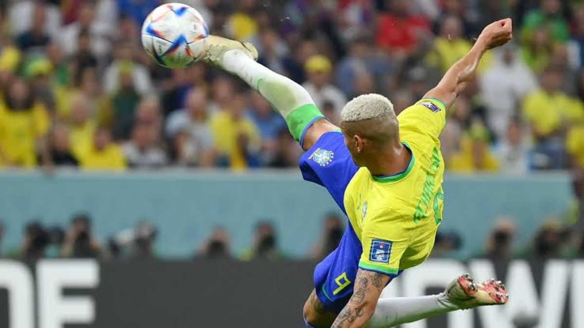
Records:
[[[395,115],[381,95],[346,104],[340,128],[297,83],[258,64],[248,43],[206,39],[200,60],[242,78],[286,119],[306,151],[305,180],[326,187],[350,224],[339,247],[315,268],[304,305],[307,327],[393,327],[480,305],[504,304],[500,281],[457,277],[438,295],[383,298],[383,288],[429,256],[442,222],[444,160],[439,135],[485,51],[512,39],[510,19],[485,27],[470,52],[422,100]]]

